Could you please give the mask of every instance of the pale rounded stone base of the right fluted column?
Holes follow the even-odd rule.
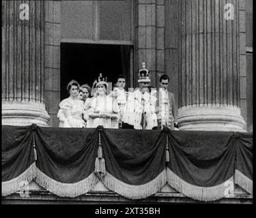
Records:
[[[240,108],[234,106],[186,106],[179,109],[180,130],[246,131]]]

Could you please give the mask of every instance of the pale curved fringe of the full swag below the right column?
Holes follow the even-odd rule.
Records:
[[[231,176],[231,178],[233,178],[233,176]],[[226,196],[225,189],[227,189],[227,187],[225,187],[225,183],[212,187],[199,187],[196,185],[191,185],[177,176],[169,168],[167,168],[167,183],[180,193],[184,194],[184,196],[193,198],[194,200],[210,202],[225,198]]]

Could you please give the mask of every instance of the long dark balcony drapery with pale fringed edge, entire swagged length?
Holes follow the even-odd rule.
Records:
[[[2,196],[32,179],[71,198],[98,181],[131,199],[147,198],[166,183],[202,201],[225,197],[230,183],[253,194],[253,136],[166,128],[2,126]]]

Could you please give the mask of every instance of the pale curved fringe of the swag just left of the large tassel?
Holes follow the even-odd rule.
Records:
[[[37,169],[35,182],[57,196],[75,198],[93,189],[96,183],[98,183],[98,178],[94,173],[91,173],[87,178],[78,183],[60,183]]]

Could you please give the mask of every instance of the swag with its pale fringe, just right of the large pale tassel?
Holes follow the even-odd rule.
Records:
[[[153,195],[166,184],[166,137],[162,131],[101,132],[106,174],[102,183],[130,199]]]

